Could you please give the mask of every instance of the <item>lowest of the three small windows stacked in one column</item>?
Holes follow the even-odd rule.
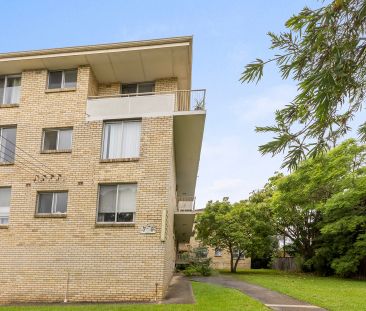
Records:
[[[67,192],[39,192],[37,214],[65,214]]]

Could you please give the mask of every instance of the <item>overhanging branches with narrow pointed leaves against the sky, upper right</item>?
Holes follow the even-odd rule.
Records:
[[[287,32],[269,33],[271,49],[279,52],[246,65],[241,81],[258,82],[271,62],[282,78],[297,81],[298,95],[276,112],[276,124],[256,128],[275,134],[260,152],[287,151],[282,166],[294,169],[306,157],[334,147],[361,112],[366,95],[366,2],[333,0],[319,9],[305,7],[285,26]],[[359,134],[366,141],[366,122]]]

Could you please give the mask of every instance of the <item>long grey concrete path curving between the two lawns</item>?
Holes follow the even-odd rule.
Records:
[[[277,311],[321,311],[320,307],[310,305],[278,292],[235,280],[228,276],[193,277],[193,281],[218,284],[225,287],[235,288],[248,296],[259,300],[272,310]]]

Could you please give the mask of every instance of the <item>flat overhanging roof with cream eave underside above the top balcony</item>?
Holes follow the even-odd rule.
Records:
[[[190,89],[192,36],[85,45],[0,54],[0,75],[90,65],[100,83],[177,77]]]

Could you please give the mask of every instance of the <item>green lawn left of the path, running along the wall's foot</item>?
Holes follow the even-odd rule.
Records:
[[[196,304],[194,305],[48,305],[0,307],[0,311],[262,311],[269,310],[261,303],[239,291],[205,283],[192,283]]]

